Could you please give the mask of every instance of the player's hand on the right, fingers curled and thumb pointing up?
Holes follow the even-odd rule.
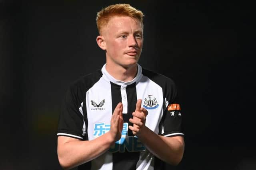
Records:
[[[148,111],[141,107],[142,100],[139,99],[136,103],[136,109],[132,113],[133,118],[129,119],[133,126],[129,126],[129,129],[132,131],[133,135],[137,135],[143,131],[146,122],[146,116],[148,115]]]

